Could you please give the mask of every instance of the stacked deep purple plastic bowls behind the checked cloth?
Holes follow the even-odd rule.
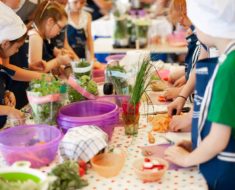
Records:
[[[119,121],[118,106],[105,101],[87,100],[62,107],[57,116],[57,123],[64,133],[72,127],[96,125],[109,136]]]

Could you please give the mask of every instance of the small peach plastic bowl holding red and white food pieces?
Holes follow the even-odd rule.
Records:
[[[163,164],[165,167],[162,170],[143,170],[143,163],[144,158],[137,159],[133,163],[134,171],[139,179],[144,182],[154,182],[159,181],[163,175],[165,174],[166,170],[169,167],[169,164],[166,160],[154,157],[155,160],[158,160],[160,164]]]

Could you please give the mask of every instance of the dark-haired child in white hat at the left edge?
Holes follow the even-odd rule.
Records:
[[[26,27],[21,19],[5,4],[0,2],[0,57],[6,59],[16,53],[26,37]],[[21,119],[23,113],[14,108],[14,96],[7,91],[10,77],[15,72],[1,66],[0,69],[0,128],[6,116]]]

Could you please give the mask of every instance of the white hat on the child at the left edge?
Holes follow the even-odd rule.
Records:
[[[16,40],[23,36],[27,28],[19,16],[4,3],[0,2],[0,44],[4,40]]]

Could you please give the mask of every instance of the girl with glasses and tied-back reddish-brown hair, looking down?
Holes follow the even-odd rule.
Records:
[[[32,29],[29,30],[29,68],[32,70],[49,72],[61,65],[69,64],[70,54],[57,54],[54,58],[49,48],[50,39],[55,37],[67,24],[67,14],[57,2],[43,1],[33,19]],[[36,44],[36,45],[35,45]],[[38,61],[45,60],[43,65]]]

